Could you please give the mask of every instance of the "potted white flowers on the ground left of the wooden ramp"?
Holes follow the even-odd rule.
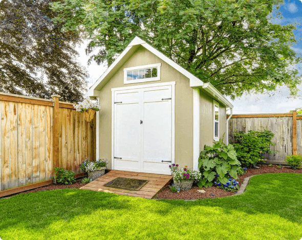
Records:
[[[80,164],[80,169],[88,173],[88,178],[93,181],[105,174],[105,169],[107,169],[108,161],[106,159],[99,159],[96,161],[90,161],[85,159]]]

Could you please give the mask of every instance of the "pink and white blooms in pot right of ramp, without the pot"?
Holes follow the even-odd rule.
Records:
[[[199,182],[201,179],[201,173],[198,171],[188,169],[187,165],[183,169],[179,169],[178,164],[172,164],[169,165],[169,167],[174,176],[173,179],[176,182],[191,181],[191,180]]]

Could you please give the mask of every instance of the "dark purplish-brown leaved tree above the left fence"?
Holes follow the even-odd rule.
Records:
[[[0,91],[77,102],[87,71],[76,60],[79,36],[61,32],[49,0],[0,3]]]

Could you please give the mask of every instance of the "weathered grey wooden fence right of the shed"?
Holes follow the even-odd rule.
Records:
[[[302,116],[293,113],[233,115],[229,121],[229,142],[236,131],[269,130],[274,134],[271,150],[275,154],[265,154],[268,163],[286,164],[288,155],[302,155]]]

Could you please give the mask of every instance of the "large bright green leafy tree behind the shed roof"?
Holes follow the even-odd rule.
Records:
[[[271,22],[283,0],[61,0],[52,4],[63,31],[88,33],[90,61],[109,65],[139,36],[232,98],[301,82],[290,66],[295,26]],[[279,14],[277,17],[279,17]]]

